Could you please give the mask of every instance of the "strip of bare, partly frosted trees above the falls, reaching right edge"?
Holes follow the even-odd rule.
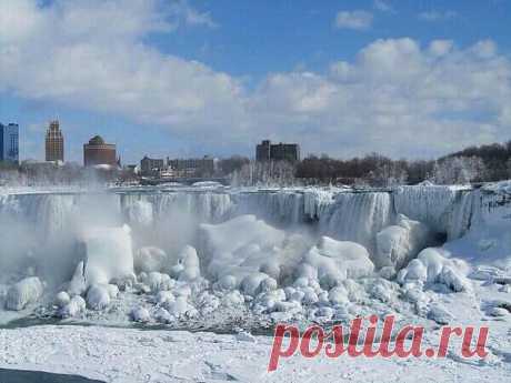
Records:
[[[350,184],[392,187],[430,181],[465,184],[511,178],[511,141],[470,147],[437,160],[392,160],[371,153],[349,160],[310,154],[298,163],[231,158],[220,170],[236,184]]]

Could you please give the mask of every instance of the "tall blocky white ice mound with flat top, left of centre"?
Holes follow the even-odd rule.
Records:
[[[108,284],[133,275],[133,252],[128,225],[93,228],[81,235],[87,248],[83,278],[87,286]]]

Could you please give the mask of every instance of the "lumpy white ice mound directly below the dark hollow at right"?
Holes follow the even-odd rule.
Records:
[[[422,250],[417,259],[399,272],[398,281],[401,284],[417,281],[443,284],[454,292],[470,291],[471,284],[467,279],[470,268],[461,260],[448,259],[444,255],[447,253],[441,249]]]

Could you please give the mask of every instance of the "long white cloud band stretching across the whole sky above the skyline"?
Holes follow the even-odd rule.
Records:
[[[0,2],[0,91],[163,127],[213,152],[269,137],[304,153],[414,158],[510,139],[511,62],[491,40],[377,40],[324,73],[272,73],[249,90],[147,44],[187,24],[169,4]]]

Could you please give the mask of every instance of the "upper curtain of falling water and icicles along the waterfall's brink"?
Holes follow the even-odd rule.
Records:
[[[482,218],[481,198],[477,190],[430,185],[387,192],[295,189],[11,194],[0,196],[0,216],[30,223],[42,238],[51,239],[83,225],[174,228],[172,221],[220,223],[255,214],[282,228],[317,225],[319,234],[372,248],[374,235],[393,224],[397,214],[421,221],[449,240],[460,238]]]

